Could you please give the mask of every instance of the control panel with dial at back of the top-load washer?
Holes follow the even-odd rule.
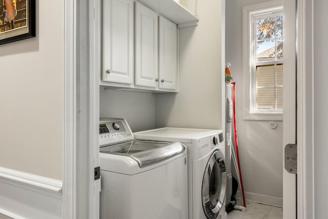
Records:
[[[100,118],[99,146],[133,140],[132,131],[124,118]]]

